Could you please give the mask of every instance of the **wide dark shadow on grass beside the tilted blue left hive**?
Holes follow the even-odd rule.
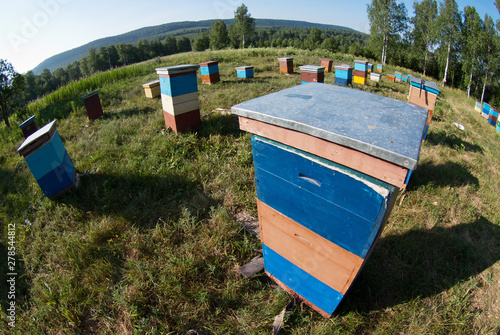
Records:
[[[140,228],[159,220],[176,220],[184,209],[203,217],[214,200],[194,181],[181,175],[109,175],[80,177],[80,185],[57,199],[87,214],[123,217]]]

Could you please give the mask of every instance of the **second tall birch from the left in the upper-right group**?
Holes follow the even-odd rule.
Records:
[[[423,54],[424,56],[423,73],[425,76],[430,49],[437,41],[437,2],[436,0],[423,0],[420,3],[414,2],[413,9],[415,10],[415,16],[412,18],[413,47],[416,55]]]

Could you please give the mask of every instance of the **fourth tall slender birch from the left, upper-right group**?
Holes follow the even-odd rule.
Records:
[[[479,37],[482,34],[483,22],[476,12],[476,8],[467,6],[464,10],[464,25],[462,29],[462,40],[464,49],[462,51],[462,70],[468,74],[467,96],[470,97],[473,75],[479,70],[481,58],[481,43]]]

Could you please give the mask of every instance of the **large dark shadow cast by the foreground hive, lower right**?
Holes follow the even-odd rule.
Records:
[[[500,227],[480,217],[382,238],[338,313],[369,313],[444,292],[500,259]]]

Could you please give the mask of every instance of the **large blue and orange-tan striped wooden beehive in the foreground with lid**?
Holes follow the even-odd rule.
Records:
[[[330,317],[416,167],[427,111],[319,83],[231,110],[252,133],[265,271]]]

